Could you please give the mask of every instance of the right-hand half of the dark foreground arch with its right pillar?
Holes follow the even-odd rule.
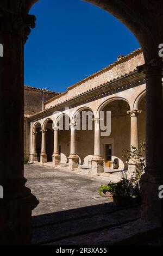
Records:
[[[28,8],[30,8],[35,2],[37,2],[37,0],[29,1]],[[163,127],[162,119],[160,120],[160,115],[163,115],[162,58],[159,57],[158,52],[159,45],[163,41],[163,21],[161,19],[163,3],[161,0],[139,0],[136,2],[136,5],[134,1],[128,0],[85,0],[85,2],[95,4],[97,7],[100,7],[115,16],[129,28],[142,47],[143,55],[145,57],[145,65],[137,68],[139,72],[145,72],[147,84],[146,173],[141,179],[141,191],[143,194],[144,205],[142,218],[158,222],[156,216],[159,216],[159,223],[162,223],[163,215],[161,209],[163,203],[158,199],[158,187],[163,184],[163,175],[161,172]],[[160,110],[159,112],[158,109]],[[160,125],[156,127],[156,123],[159,123]],[[148,189],[148,181],[151,184],[151,190]],[[158,209],[157,214],[152,210],[153,205],[151,204],[151,198],[153,197],[155,198],[156,209]]]

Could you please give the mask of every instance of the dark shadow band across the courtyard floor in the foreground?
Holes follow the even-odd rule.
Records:
[[[140,205],[133,200],[126,207],[112,202],[32,217],[33,244],[55,243],[117,227],[140,218]],[[76,241],[78,245],[78,241]]]

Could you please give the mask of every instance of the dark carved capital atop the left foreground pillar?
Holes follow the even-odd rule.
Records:
[[[30,14],[12,13],[2,9],[0,10],[0,16],[0,33],[18,34],[22,37],[25,44],[31,28],[35,28],[36,17]]]

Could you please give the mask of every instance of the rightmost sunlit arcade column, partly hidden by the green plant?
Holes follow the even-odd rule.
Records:
[[[133,109],[127,111],[131,117],[131,129],[130,129],[130,145],[139,149],[139,136],[138,136],[138,115],[141,113],[141,110]],[[136,169],[136,159],[130,159],[128,162],[128,171],[132,174]]]

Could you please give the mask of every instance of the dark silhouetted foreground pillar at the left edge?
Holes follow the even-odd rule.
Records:
[[[4,192],[0,200],[0,244],[24,245],[32,240],[31,215],[39,203],[25,186],[23,171],[23,51],[35,17],[19,11],[8,13],[2,7],[0,16],[0,185]]]

